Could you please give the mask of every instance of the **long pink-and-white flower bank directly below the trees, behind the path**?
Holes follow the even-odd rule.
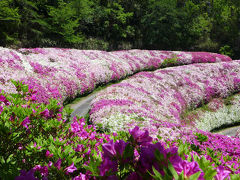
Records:
[[[92,91],[96,85],[138,71],[173,65],[231,61],[206,52],[129,50],[105,52],[59,48],[12,50],[0,47],[0,89],[16,92],[10,79],[37,90],[37,101],[59,102]]]

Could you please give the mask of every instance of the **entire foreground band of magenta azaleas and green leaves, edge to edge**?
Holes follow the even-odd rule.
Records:
[[[1,179],[240,178],[238,138],[182,131],[182,140],[162,141],[139,127],[103,133],[84,119],[70,122],[56,100],[38,103],[36,91],[13,84],[17,93],[0,94]]]

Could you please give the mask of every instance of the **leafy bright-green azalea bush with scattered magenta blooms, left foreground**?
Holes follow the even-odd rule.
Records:
[[[26,175],[70,178],[97,156],[110,135],[99,134],[84,119],[69,119],[71,111],[52,99],[36,102],[36,91],[13,81],[16,94],[0,95],[0,177]],[[75,165],[74,165],[75,164]]]

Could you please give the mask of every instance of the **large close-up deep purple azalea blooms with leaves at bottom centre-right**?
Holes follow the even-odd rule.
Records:
[[[186,144],[174,141],[153,143],[148,132],[139,127],[129,133],[127,141],[112,140],[102,145],[102,162],[98,163],[98,169],[94,169],[93,164],[88,166],[92,175],[102,179],[128,180],[239,178],[238,172],[233,173],[224,163],[217,165],[209,155],[200,155],[194,150],[183,152],[180,148]]]

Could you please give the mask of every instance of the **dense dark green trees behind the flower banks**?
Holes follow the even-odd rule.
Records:
[[[240,58],[240,1],[1,0],[0,45],[201,50]]]

